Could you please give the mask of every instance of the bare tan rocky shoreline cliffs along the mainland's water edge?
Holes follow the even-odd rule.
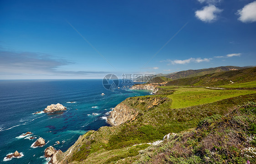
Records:
[[[152,90],[152,93],[156,93],[159,90],[159,84],[138,84],[133,85],[130,89],[145,89],[145,90]],[[107,118],[107,123],[110,124],[112,127],[118,128],[118,125],[126,123],[128,121],[133,121],[137,118],[139,111],[136,108],[131,108],[128,103],[133,101],[132,99],[137,100],[138,98],[132,97],[124,100],[123,102],[119,103],[113,111],[110,112],[110,115]],[[139,103],[145,103],[147,108],[151,108],[154,105],[157,105],[161,102],[165,101],[165,99],[160,97],[148,98],[148,99],[141,99]],[[103,128],[103,127],[102,127]],[[99,130],[101,130],[100,128]],[[110,127],[104,127],[104,129],[108,129]],[[90,130],[91,133],[95,131]],[[87,136],[88,135],[88,136]],[[75,151],[80,150],[80,147],[83,143],[84,139],[89,138],[90,133],[86,133],[81,135],[75,144],[73,144],[66,152],[62,153],[61,150],[56,150],[52,146],[47,147],[45,149],[45,157],[51,158],[49,163],[51,164],[67,164],[67,161],[71,156],[75,153]],[[89,142],[89,141],[88,141]],[[89,143],[88,143],[89,144]]]

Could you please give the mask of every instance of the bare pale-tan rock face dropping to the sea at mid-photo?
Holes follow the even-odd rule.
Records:
[[[111,126],[117,126],[128,120],[134,120],[137,115],[138,111],[130,108],[126,104],[120,103],[113,109],[113,111],[110,112],[107,122]]]

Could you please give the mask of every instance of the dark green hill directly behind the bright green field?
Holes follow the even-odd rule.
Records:
[[[241,67],[240,67],[241,68]],[[219,86],[230,84],[230,80],[234,83],[245,83],[249,81],[256,81],[256,67],[221,71],[213,74],[182,78],[169,81],[166,85],[185,85],[185,86]]]

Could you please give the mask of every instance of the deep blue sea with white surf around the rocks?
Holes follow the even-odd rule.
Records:
[[[102,80],[0,80],[0,163],[44,164],[46,147],[59,141],[54,148],[66,151],[88,130],[108,126],[110,108],[128,97],[148,94],[145,90],[107,90]],[[72,101],[75,103],[68,103]],[[33,114],[57,103],[67,110]],[[31,148],[36,139],[20,137],[28,131],[33,133],[30,137],[42,137],[47,144]],[[5,161],[15,150],[24,156]]]

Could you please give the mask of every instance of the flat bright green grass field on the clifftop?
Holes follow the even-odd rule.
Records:
[[[167,89],[168,87],[164,88]],[[170,87],[170,89],[172,88],[173,87]],[[174,94],[167,96],[172,99],[172,109],[208,104],[221,99],[256,93],[256,91],[253,90],[214,90],[196,87],[179,87],[174,90]]]

